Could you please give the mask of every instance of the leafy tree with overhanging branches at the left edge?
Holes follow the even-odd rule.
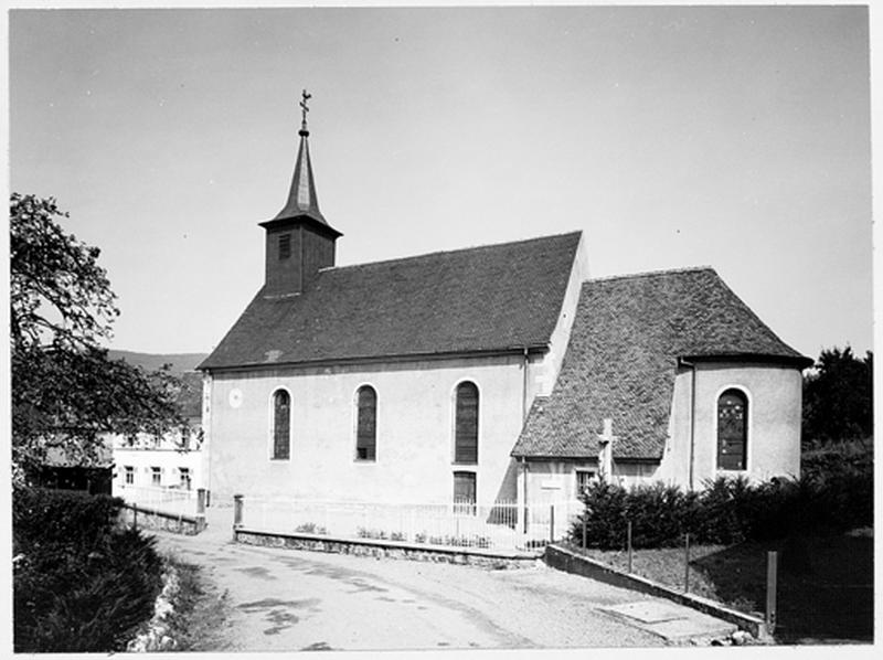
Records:
[[[168,370],[148,373],[108,358],[99,341],[119,316],[100,251],[58,224],[54,199],[10,196],[12,460],[18,479],[50,449],[89,461],[103,435],[153,435],[187,422]]]

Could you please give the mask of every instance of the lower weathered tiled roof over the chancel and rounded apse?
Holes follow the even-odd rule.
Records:
[[[811,363],[711,268],[589,280],[552,394],[533,402],[512,455],[597,457],[611,418],[615,458],[660,459],[679,358]]]

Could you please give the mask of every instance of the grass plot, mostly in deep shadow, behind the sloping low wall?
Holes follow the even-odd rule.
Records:
[[[780,642],[873,640],[873,539],[808,537],[690,549],[690,593],[763,616],[767,551],[779,552]],[[579,551],[578,549],[577,552]],[[588,556],[625,571],[625,551],[588,549]],[[636,550],[632,572],[670,587],[684,586],[683,547]]]

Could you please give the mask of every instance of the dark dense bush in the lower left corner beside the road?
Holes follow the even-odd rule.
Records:
[[[125,650],[161,588],[153,539],[117,525],[116,498],[22,488],[12,503],[14,650]]]

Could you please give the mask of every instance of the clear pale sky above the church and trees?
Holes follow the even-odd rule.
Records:
[[[581,230],[872,349],[862,7],[19,9],[10,189],[102,248],[111,348],[208,352],[263,284],[301,88],[338,264]]]

